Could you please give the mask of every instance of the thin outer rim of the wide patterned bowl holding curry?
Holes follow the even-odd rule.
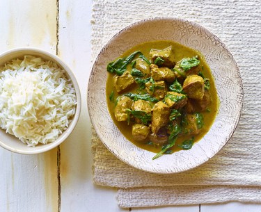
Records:
[[[205,28],[205,26],[202,26],[200,24],[197,24],[196,22],[193,22],[193,21],[190,21],[188,19],[183,19],[183,18],[179,18],[179,17],[150,17],[150,18],[147,18],[147,19],[141,19],[137,22],[133,22],[132,24],[129,24],[127,26],[125,26],[124,28],[121,28],[120,31],[118,31],[117,33],[115,33],[109,40],[106,41],[106,43],[102,46],[102,48],[100,49],[99,53],[97,54],[97,56],[95,57],[95,60],[93,61],[93,65],[92,65],[92,69],[90,71],[90,75],[93,74],[94,70],[95,70],[95,65],[97,65],[98,63],[98,60],[99,58],[102,56],[104,50],[106,48],[109,47],[109,45],[111,44],[111,42],[113,42],[113,40],[115,40],[122,32],[126,31],[127,29],[129,28],[133,28],[135,26],[139,26],[140,24],[144,23],[144,22],[155,22],[155,21],[167,21],[167,22],[188,22],[189,24],[193,24],[193,26],[196,26],[196,28],[203,28],[206,32],[210,33],[211,35],[214,36],[216,42],[219,42],[223,49],[226,49],[226,51],[228,51],[230,53],[230,55],[232,56],[232,61],[235,62],[235,66],[236,66],[236,72],[237,72],[237,75],[239,76],[240,78],[240,83],[239,83],[239,86],[241,88],[241,95],[242,95],[242,99],[240,101],[240,108],[239,108],[239,115],[237,115],[237,119],[235,119],[235,124],[232,128],[232,131],[231,133],[229,133],[229,135],[224,138],[226,140],[226,142],[224,142],[223,145],[219,145],[219,149],[216,149],[216,152],[214,152],[214,154],[212,154],[211,156],[206,156],[205,157],[205,160],[201,160],[199,163],[196,164],[196,166],[194,167],[190,167],[190,168],[187,168],[185,170],[178,170],[178,171],[169,171],[169,170],[164,170],[164,171],[153,171],[153,170],[148,170],[146,168],[140,168],[140,167],[137,167],[136,165],[132,164],[132,163],[129,163],[129,161],[127,161],[125,158],[123,158],[122,156],[120,155],[116,155],[112,149],[109,148],[109,146],[106,144],[106,142],[104,142],[104,138],[102,138],[101,136],[101,133],[100,131],[97,129],[97,126],[95,124],[95,120],[93,120],[93,117],[92,115],[90,114],[91,113],[91,108],[90,108],[90,98],[89,98],[89,85],[90,85],[90,82],[91,82],[91,79],[89,77],[89,80],[88,80],[88,92],[87,92],[87,105],[88,105],[88,113],[89,113],[89,116],[90,116],[90,121],[91,123],[93,124],[93,128],[95,129],[95,132],[97,133],[97,136],[100,138],[100,140],[102,141],[103,145],[106,146],[107,149],[109,149],[109,151],[114,155],[116,156],[116,158],[120,159],[120,161],[124,162],[124,163],[127,163],[127,165],[130,165],[132,166],[133,168],[137,168],[139,170],[143,170],[145,172],[151,172],[151,173],[156,173],[156,174],[174,174],[174,173],[180,173],[180,172],[186,172],[188,170],[192,170],[194,168],[198,168],[198,166],[202,165],[203,163],[206,163],[207,161],[209,161],[210,158],[212,158],[213,156],[215,156],[218,152],[220,152],[220,150],[226,146],[226,144],[228,143],[228,141],[230,140],[230,138],[232,137],[232,135],[235,133],[235,129],[237,128],[237,125],[239,124],[239,120],[240,120],[240,117],[242,115],[242,110],[243,110],[243,103],[244,103],[244,87],[243,87],[243,82],[242,82],[242,76],[241,76],[241,73],[240,73],[240,70],[239,70],[239,67],[235,61],[235,58],[234,56],[231,54],[231,51],[228,49],[228,47],[226,46],[226,44],[219,38],[217,37],[214,33],[212,33],[212,31],[210,31],[208,28]],[[220,106],[219,106],[220,107]],[[216,115],[218,115],[219,111],[217,112]],[[216,120],[216,117],[215,117],[215,120]],[[114,124],[114,123],[113,123]],[[212,123],[214,124],[214,122]],[[120,132],[121,133],[121,132]],[[130,142],[130,141],[129,141]],[[145,150],[147,151],[147,150]]]

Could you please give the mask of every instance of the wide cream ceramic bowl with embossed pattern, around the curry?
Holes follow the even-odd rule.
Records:
[[[120,133],[106,105],[106,65],[127,49],[142,42],[172,40],[197,49],[204,56],[215,79],[220,105],[214,124],[189,150],[161,156],[136,147]],[[155,18],[136,22],[113,36],[102,48],[88,83],[88,111],[93,127],[104,145],[134,168],[156,173],[190,170],[212,158],[226,145],[239,122],[243,86],[237,64],[219,38],[203,26],[184,19]]]

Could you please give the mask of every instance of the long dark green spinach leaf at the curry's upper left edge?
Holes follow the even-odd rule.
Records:
[[[127,58],[118,58],[117,60],[109,63],[107,65],[107,71],[121,76],[125,72],[127,65],[132,62],[137,54],[141,54],[141,51],[134,51],[134,53],[127,56]]]

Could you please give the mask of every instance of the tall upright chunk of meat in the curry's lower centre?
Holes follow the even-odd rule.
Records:
[[[171,109],[164,104],[163,101],[158,101],[152,108],[152,133],[157,133],[161,127],[168,124]]]

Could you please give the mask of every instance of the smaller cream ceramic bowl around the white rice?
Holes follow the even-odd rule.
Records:
[[[38,154],[38,153],[46,152],[60,145],[61,142],[63,142],[66,138],[68,138],[70,133],[72,133],[74,127],[76,126],[79,120],[79,115],[81,111],[81,95],[80,95],[77,79],[75,78],[74,74],[72,73],[68,65],[66,65],[60,58],[58,58],[58,56],[55,56],[54,54],[51,54],[47,51],[42,51],[40,49],[35,49],[31,47],[12,49],[0,55],[0,66],[4,65],[8,61],[13,60],[15,58],[22,59],[24,58],[24,55],[38,56],[43,58],[44,60],[52,60],[54,63],[60,66],[63,70],[65,70],[66,72],[65,74],[67,75],[68,79],[71,79],[77,97],[77,108],[76,108],[76,113],[72,118],[72,122],[70,122],[68,129],[63,131],[63,133],[61,133],[61,135],[58,136],[57,140],[55,140],[54,142],[49,142],[46,145],[40,144],[35,147],[28,147],[22,141],[19,141],[18,138],[15,138],[15,136],[11,136],[9,133],[6,133],[6,131],[4,131],[3,129],[0,129],[1,147],[8,149],[11,152],[16,152],[19,154]]]

